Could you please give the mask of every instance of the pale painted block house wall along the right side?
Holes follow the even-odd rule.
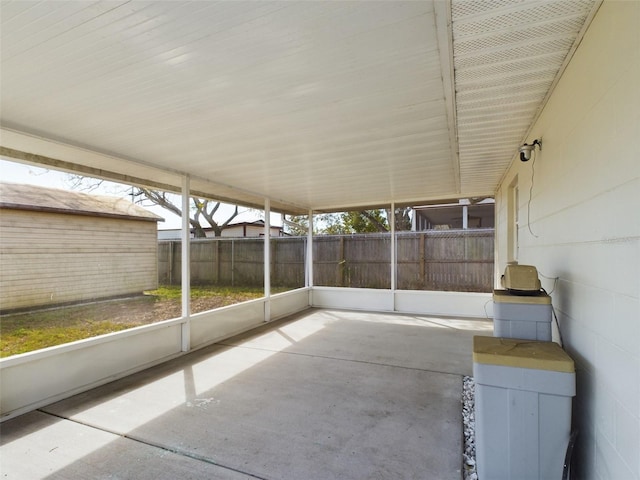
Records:
[[[638,480],[640,1],[602,4],[534,138],[542,151],[531,203],[531,161],[515,160],[496,194],[496,273],[512,260],[508,204],[517,185],[517,260],[559,277],[553,305],[577,364],[572,478]],[[547,290],[553,284],[543,279]]]

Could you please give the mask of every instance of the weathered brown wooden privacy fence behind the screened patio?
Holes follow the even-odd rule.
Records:
[[[396,240],[397,288],[490,292],[493,229],[400,232]],[[306,237],[271,239],[271,285],[305,284]],[[390,288],[390,234],[318,235],[313,238],[314,285]],[[261,286],[262,238],[191,241],[194,285]],[[180,241],[158,244],[158,281],[180,284]]]

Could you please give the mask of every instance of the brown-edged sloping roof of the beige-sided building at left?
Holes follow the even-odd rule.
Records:
[[[162,222],[164,219],[126,198],[56,188],[0,183],[0,208]]]

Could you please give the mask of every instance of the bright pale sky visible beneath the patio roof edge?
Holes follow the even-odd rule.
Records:
[[[11,162],[4,159],[0,159],[0,180],[3,182],[23,183],[27,185],[39,185],[42,187],[72,190],[69,175],[65,172],[34,167],[32,165]],[[127,187],[124,185],[105,182],[99,189],[94,190],[93,193],[100,195],[126,196],[126,191]],[[178,202],[179,201],[180,200],[178,199]],[[148,206],[146,204],[144,205],[144,208],[165,219],[164,222],[158,222],[158,228],[160,230],[180,228],[180,217],[172,214],[168,210],[158,206]],[[232,206],[223,204],[219,210],[220,214],[216,215],[216,218],[220,219],[220,221],[224,221],[232,211]],[[263,218],[258,212],[249,208],[241,207],[240,212],[240,215],[234,219],[233,223],[253,222]],[[271,224],[282,225],[282,219],[279,214],[271,214]]]

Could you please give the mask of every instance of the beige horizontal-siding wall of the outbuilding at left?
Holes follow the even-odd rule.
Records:
[[[156,223],[0,213],[0,309],[140,293],[157,285]]]

